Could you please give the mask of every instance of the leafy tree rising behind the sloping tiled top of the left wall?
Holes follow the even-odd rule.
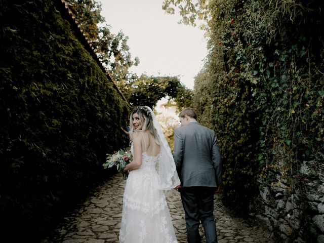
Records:
[[[125,36],[122,31],[117,34],[111,33],[111,26],[107,24],[98,27],[98,24],[105,22],[105,18],[101,16],[101,4],[97,1],[67,0],[67,2],[86,37],[95,48],[99,60],[111,72],[117,85],[122,80],[127,80],[131,76],[129,68],[139,64],[138,57],[132,59],[127,45],[128,36]]]

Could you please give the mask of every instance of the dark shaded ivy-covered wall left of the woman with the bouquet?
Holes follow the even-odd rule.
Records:
[[[0,215],[11,242],[41,237],[128,143],[128,104],[58,3],[0,2]]]

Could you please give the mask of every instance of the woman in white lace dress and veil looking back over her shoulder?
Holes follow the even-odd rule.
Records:
[[[124,192],[119,242],[177,242],[163,191],[180,185],[168,142],[147,106],[132,112],[130,126],[134,160],[124,168],[131,172]]]

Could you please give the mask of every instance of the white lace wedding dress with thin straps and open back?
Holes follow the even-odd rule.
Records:
[[[133,146],[131,151],[134,152]],[[177,242],[164,191],[158,189],[155,165],[159,155],[142,152],[141,167],[128,176],[119,232],[121,243]]]

